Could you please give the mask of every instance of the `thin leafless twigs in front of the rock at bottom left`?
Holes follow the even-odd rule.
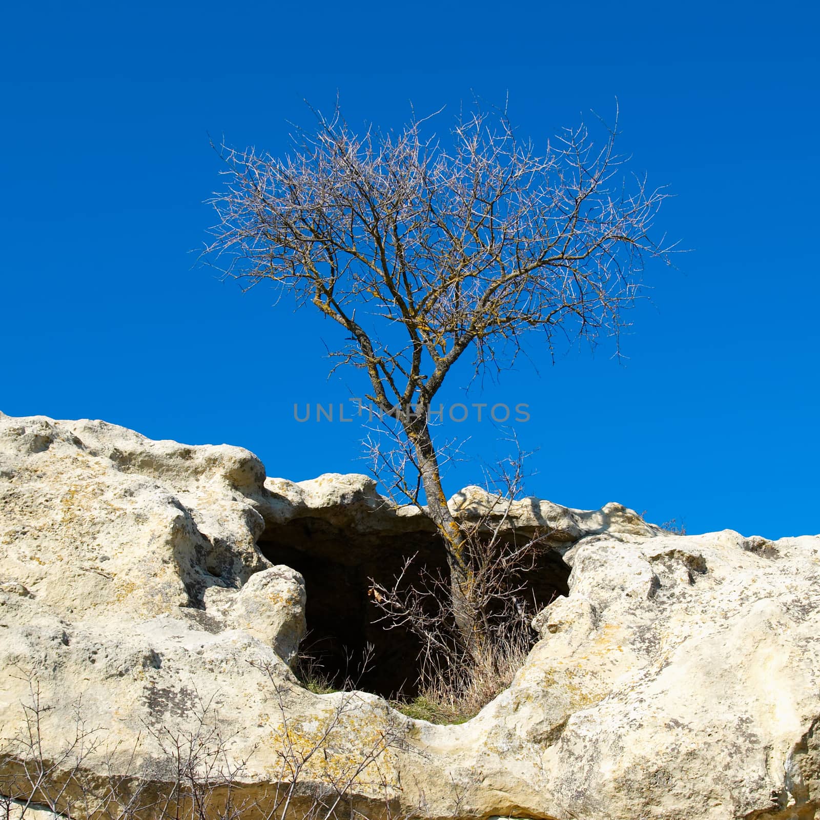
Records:
[[[335,699],[314,741],[305,741],[298,720],[286,708],[292,686],[278,678],[278,667],[253,663],[270,681],[278,711],[277,739],[272,747],[278,765],[261,790],[246,789],[248,758],[235,758],[235,730],[221,722],[214,698],[198,699],[185,725],[145,726],[130,750],[133,768],[120,770],[114,755],[118,741],[103,728],[86,726],[78,700],[75,726],[65,727],[62,749],[44,754],[43,716],[52,708],[39,682],[27,673],[30,701],[21,704],[21,728],[0,739],[0,818],[35,820],[49,817],[88,820],[351,820],[361,786],[373,795],[369,816],[409,820],[397,813],[399,790],[385,774],[384,757],[403,745],[403,728],[390,719],[352,754],[339,756],[339,742],[348,739],[348,716],[360,697],[349,692]],[[146,738],[153,749],[139,763]],[[126,750],[127,754],[128,750]],[[148,765],[146,765],[148,763]],[[157,772],[168,772],[167,781]]]

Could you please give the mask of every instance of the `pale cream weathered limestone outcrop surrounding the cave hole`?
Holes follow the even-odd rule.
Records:
[[[450,503],[471,517],[493,499]],[[617,504],[539,499],[508,521],[549,533],[544,590],[564,594],[510,689],[433,726],[376,695],[313,695],[290,668],[312,597],[435,555],[423,512],[365,476],[266,479],[244,449],[0,415],[0,786],[39,701],[58,774],[78,720],[99,740],[80,766],[91,793],[112,774],[162,786],[168,739],[194,726],[222,732],[216,792],[232,778],[248,800],[282,782],[287,749],[321,746],[294,806],[330,778],[371,815],[817,816],[820,538],[671,535]],[[325,586],[312,566],[332,568]],[[88,808],[88,792],[61,800]]]

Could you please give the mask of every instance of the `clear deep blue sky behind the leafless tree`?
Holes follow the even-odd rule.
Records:
[[[532,494],[621,501],[689,531],[820,532],[818,11],[809,2],[13,3],[0,33],[0,409],[241,444],[269,475],[363,471],[362,430],[294,421],[344,401],[326,323],[240,294],[196,254],[220,185],[208,134],[271,152],[303,98],[400,125],[471,89],[544,140],[622,112],[660,224],[625,364],[522,364],[467,401],[526,402]],[[445,112],[446,115],[446,112]],[[442,121],[444,123],[444,121]],[[458,385],[449,398],[458,400]],[[485,423],[467,452],[503,453]],[[478,476],[463,463],[448,491]]]

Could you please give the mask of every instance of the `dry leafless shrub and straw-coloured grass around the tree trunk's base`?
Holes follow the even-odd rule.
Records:
[[[387,630],[410,631],[419,640],[418,695],[430,711],[428,720],[452,722],[478,713],[510,685],[535,643],[531,621],[539,607],[534,594],[530,598],[527,573],[554,533],[546,528],[525,533],[511,526],[525,458],[519,450],[501,462],[493,476],[486,476],[495,491],[472,488],[479,492],[455,512],[470,556],[471,633],[458,628],[449,579],[418,567],[417,554],[405,558],[392,584],[370,579],[369,594],[380,610],[377,622]]]

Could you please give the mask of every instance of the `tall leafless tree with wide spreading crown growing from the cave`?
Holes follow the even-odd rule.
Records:
[[[270,281],[344,329],[332,355],[367,373],[367,399],[395,420],[399,471],[417,475],[399,483],[415,503],[423,490],[453,617],[471,635],[475,559],[442,488],[433,400],[462,357],[475,374],[508,367],[528,331],[551,353],[617,339],[645,257],[666,257],[649,235],[666,194],[624,178],[616,128],[595,142],[581,124],[539,152],[505,110],[476,104],[446,140],[429,121],[357,134],[337,107],[283,157],[223,145],[229,182],[207,251],[225,275]]]

